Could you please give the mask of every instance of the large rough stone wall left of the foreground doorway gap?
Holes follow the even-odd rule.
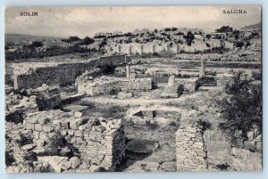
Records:
[[[88,118],[80,112],[51,110],[29,113],[23,125],[33,135],[35,151],[46,150],[46,143],[55,134],[61,134],[80,152],[82,171],[112,171],[125,153],[121,119]],[[65,169],[60,167],[58,171]]]

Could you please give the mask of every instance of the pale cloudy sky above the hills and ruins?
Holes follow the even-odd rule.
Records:
[[[247,13],[223,13],[246,10]],[[38,16],[21,16],[38,12]],[[93,37],[98,32],[142,28],[201,28],[213,32],[229,25],[239,29],[261,21],[261,7],[247,6],[54,6],[5,9],[6,34],[46,37]]]

